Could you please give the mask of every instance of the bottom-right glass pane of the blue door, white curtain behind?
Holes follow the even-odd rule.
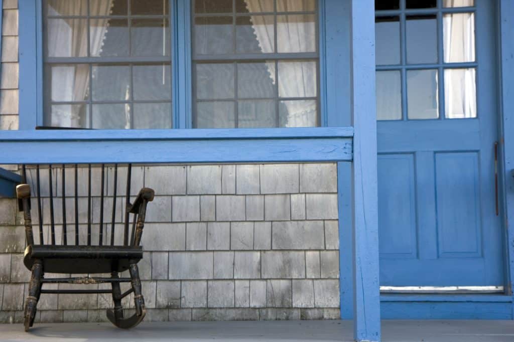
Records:
[[[476,118],[475,69],[445,70],[445,116]]]

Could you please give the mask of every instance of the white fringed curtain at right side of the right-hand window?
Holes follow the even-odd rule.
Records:
[[[250,13],[269,12],[272,2],[269,0],[245,0]],[[312,0],[286,0],[279,2],[282,9],[289,12],[310,10]],[[310,20],[310,15],[281,15],[277,20],[278,51],[273,51],[273,21],[269,16],[250,15],[252,28],[263,53],[269,52],[315,52],[316,51],[316,24]],[[270,78],[273,84],[277,82],[276,70],[273,62],[267,63]],[[317,96],[316,62],[294,61],[279,62],[279,96],[304,98]],[[286,118],[281,118],[281,125],[285,127],[301,127],[316,125],[316,101],[285,101],[287,108]]]

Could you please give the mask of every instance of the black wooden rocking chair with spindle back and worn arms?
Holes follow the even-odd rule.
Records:
[[[91,196],[91,165],[87,165],[87,224],[79,225],[79,173],[78,165],[60,165],[56,168],[48,165],[48,211],[45,209],[45,216],[42,211],[42,182],[40,177],[40,165],[35,165],[35,168],[30,169],[30,172],[35,172],[35,203],[37,205],[38,225],[39,225],[39,243],[34,243],[34,234],[32,231],[32,218],[31,218],[31,191],[30,185],[27,183],[27,169],[29,166],[22,166],[23,183],[16,187],[16,195],[19,201],[19,210],[23,211],[25,221],[25,234],[27,238],[27,248],[25,249],[24,264],[32,274],[29,283],[29,293],[25,301],[25,331],[28,331],[34,322],[36,306],[42,293],[66,293],[66,294],[91,294],[91,293],[111,293],[114,301],[114,309],[107,309],[107,318],[119,328],[132,328],[138,325],[143,319],[146,310],[144,306],[144,299],[141,294],[141,281],[139,279],[139,271],[137,263],[143,257],[142,247],[140,246],[141,234],[143,232],[144,218],[146,213],[146,205],[154,199],[154,191],[150,188],[142,188],[134,202],[130,202],[130,187],[131,187],[131,170],[132,166],[127,165],[126,177],[126,192],[124,205],[124,221],[123,226],[115,224],[116,212],[116,199],[120,197],[117,191],[118,183],[118,165],[113,165],[114,181],[112,187],[112,198],[106,198],[104,191],[105,188],[105,168],[104,164],[101,165],[101,180],[100,180],[100,204],[96,206],[99,213],[99,224],[93,224],[91,206],[93,205],[93,197]],[[46,171],[46,170],[45,170]],[[71,184],[66,183],[66,176],[74,175],[74,181]],[[57,186],[53,186],[52,177],[59,175],[61,180],[61,196],[60,198],[54,197],[54,191],[57,192]],[[69,178],[68,178],[69,179]],[[31,179],[34,184],[34,180]],[[66,185],[71,185],[72,189],[68,189]],[[81,184],[82,185],[82,184]],[[110,188],[111,186],[109,186]],[[70,194],[72,196],[68,196]],[[123,195],[125,195],[123,194]],[[56,194],[57,195],[57,194]],[[68,206],[69,198],[74,203],[75,217],[74,222],[67,224],[66,222],[66,202]],[[45,199],[46,200],[46,199]],[[81,197],[81,201],[83,198]],[[61,235],[59,236],[59,229],[56,227],[56,219],[54,218],[54,206],[60,204],[62,206],[62,225],[60,229]],[[84,204],[84,203],[82,203]],[[107,204],[112,206],[112,215],[110,221],[110,242],[107,237],[109,223],[104,222],[104,207]],[[120,216],[121,213],[118,214]],[[133,214],[132,230],[129,229],[130,214]],[[44,232],[43,217],[49,215],[50,225],[49,229]],[[68,214],[70,216],[70,214]],[[107,215],[106,215],[107,216]],[[104,232],[105,225],[105,232]],[[46,228],[46,226],[45,226]],[[119,230],[123,230],[120,232]],[[87,231],[86,231],[87,230]],[[98,232],[98,241],[96,240],[96,233]],[[92,232],[94,234],[92,234]],[[44,235],[46,233],[46,240]],[[87,233],[87,235],[85,235]],[[118,234],[117,234],[118,233]],[[121,234],[122,233],[122,234]],[[58,240],[56,241],[56,235]],[[73,236],[69,236],[73,235]],[[119,236],[118,243],[115,244],[115,236]],[[92,236],[94,238],[92,238]],[[129,239],[130,237],[130,239]],[[82,239],[80,239],[82,238]],[[121,241],[122,240],[122,241]],[[69,243],[71,242],[71,243]],[[130,277],[121,278],[120,272],[128,270]],[[61,273],[67,276],[62,278],[45,278],[45,273]],[[111,276],[90,276],[91,274],[107,273]],[[70,277],[70,274],[84,274],[83,277]],[[120,283],[130,282],[131,288],[124,293],[121,292]],[[99,284],[111,283],[111,289],[43,289],[45,283],[70,283],[70,284]],[[122,298],[134,293],[134,304],[136,312],[131,317],[123,316],[123,308],[121,305]]]

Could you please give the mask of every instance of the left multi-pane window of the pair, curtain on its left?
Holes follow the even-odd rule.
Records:
[[[168,0],[44,1],[44,124],[171,128]]]

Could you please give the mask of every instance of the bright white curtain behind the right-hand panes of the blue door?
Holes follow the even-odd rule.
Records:
[[[457,0],[454,2],[456,3]],[[474,15],[472,13],[445,14],[443,26],[445,62],[474,62]],[[447,118],[476,117],[475,82],[474,68],[445,70],[445,111]]]

